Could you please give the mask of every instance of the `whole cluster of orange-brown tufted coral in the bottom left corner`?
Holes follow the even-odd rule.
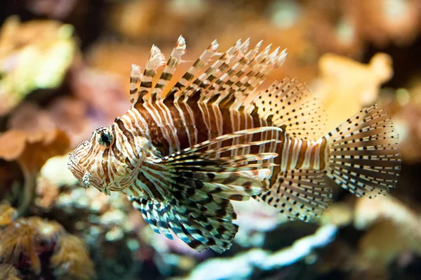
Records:
[[[10,206],[6,207],[0,210],[11,210]],[[22,273],[28,273],[29,267],[32,274],[45,276],[49,273],[45,271],[45,258],[51,255],[53,274],[67,272],[69,279],[92,279],[95,275],[86,246],[76,236],[67,234],[58,222],[34,216],[9,220],[2,225],[0,260],[4,265],[14,265]]]

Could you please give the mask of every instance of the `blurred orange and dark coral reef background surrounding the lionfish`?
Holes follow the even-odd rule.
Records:
[[[1,0],[0,279],[421,279],[420,33],[420,0]],[[185,60],[214,39],[288,48],[267,84],[307,83],[326,131],[389,107],[397,187],[373,200],[335,189],[308,224],[235,204],[239,233],[222,254],[155,234],[121,194],[80,187],[67,153],[130,107],[131,64],[152,44],[168,55],[180,34]]]

